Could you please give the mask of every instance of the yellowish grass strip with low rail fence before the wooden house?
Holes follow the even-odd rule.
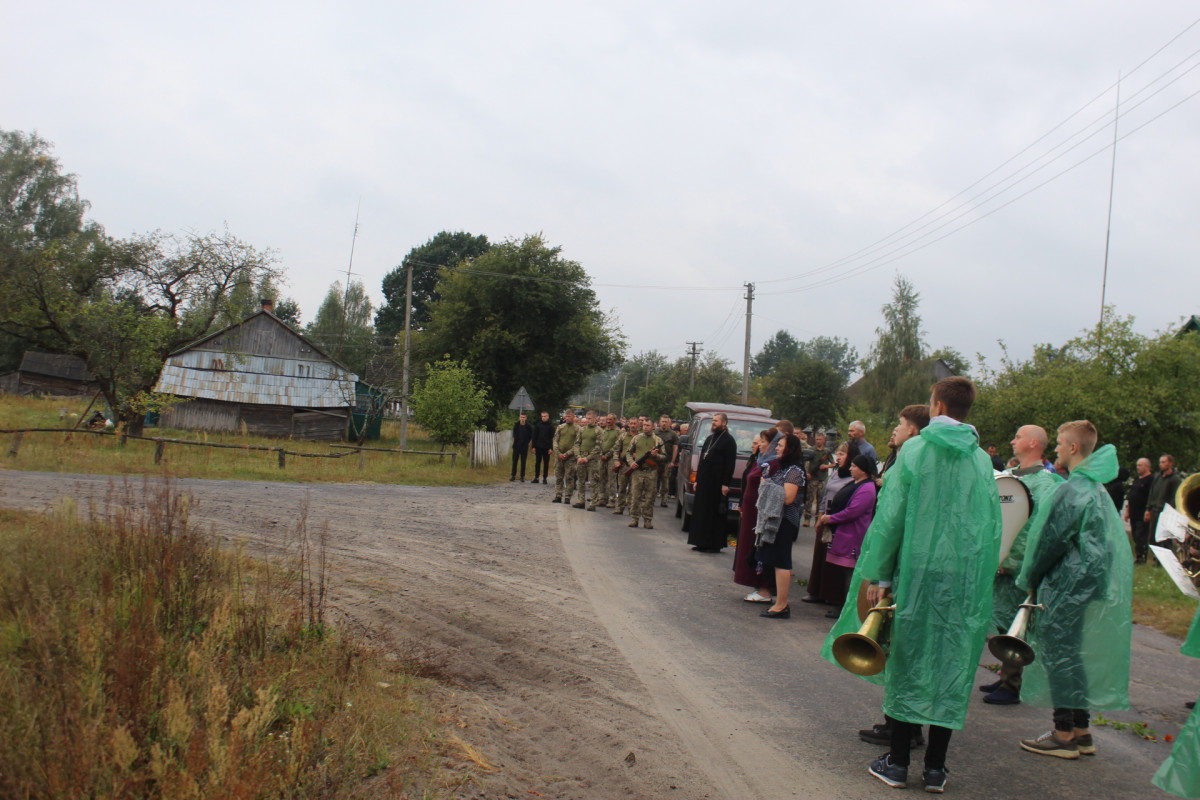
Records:
[[[66,398],[0,397],[0,429],[70,428],[84,411],[86,401]],[[66,415],[64,416],[64,411]],[[472,469],[464,449],[457,463],[437,456],[364,452],[331,458],[340,451],[326,444],[235,433],[205,433],[146,428],[146,437],[182,439],[238,446],[286,447],[289,452],[311,456],[287,456],[284,469],[278,456],[263,450],[230,450],[167,444],[161,464],[155,464],[155,443],[130,439],[124,446],[116,437],[90,433],[29,433],[13,458],[0,456],[0,468],[35,471],[70,471],[103,475],[170,475],[226,480],[295,481],[313,483],[408,483],[416,486],[469,486],[493,483],[508,477],[508,465]],[[7,453],[13,434],[0,434],[0,452]],[[400,425],[385,422],[383,439],[368,441],[371,447],[398,447]],[[409,426],[409,450],[440,450],[416,426]]]

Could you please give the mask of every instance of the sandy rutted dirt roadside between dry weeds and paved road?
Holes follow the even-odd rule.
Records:
[[[274,549],[306,516],[328,530],[331,607],[380,646],[444,664],[458,736],[493,765],[461,798],[715,798],[614,646],[532,486],[470,489],[179,481],[194,519]],[[0,471],[0,504],[80,506],[104,476]],[[522,492],[528,494],[522,494]]]

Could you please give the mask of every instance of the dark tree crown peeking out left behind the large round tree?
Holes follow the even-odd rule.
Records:
[[[487,236],[474,236],[464,231],[443,230],[430,241],[408,251],[398,266],[383,277],[383,306],[376,313],[376,332],[388,342],[404,330],[404,264],[414,263],[413,270],[413,330],[421,331],[430,324],[431,308],[438,299],[437,266],[458,266],[491,249]]]

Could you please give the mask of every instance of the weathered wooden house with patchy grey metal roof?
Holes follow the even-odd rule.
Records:
[[[356,380],[264,305],[167,356],[155,391],[186,398],[163,410],[162,427],[340,441]]]

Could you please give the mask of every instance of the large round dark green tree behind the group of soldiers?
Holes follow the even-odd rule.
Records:
[[[445,270],[438,283],[415,351],[469,363],[491,387],[488,425],[521,386],[557,410],[589,375],[620,361],[620,330],[600,311],[587,272],[560,249],[538,235],[509,240],[469,270]]]

